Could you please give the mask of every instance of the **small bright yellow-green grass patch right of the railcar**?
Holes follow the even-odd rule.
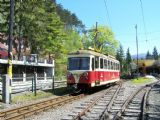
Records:
[[[152,78],[146,78],[146,77],[139,77],[138,79],[135,78],[132,80],[133,84],[144,84],[144,83],[149,83],[152,81]]]

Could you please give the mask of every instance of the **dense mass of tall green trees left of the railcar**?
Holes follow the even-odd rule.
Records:
[[[66,55],[81,48],[79,31],[84,28],[77,16],[69,10],[58,8],[54,0],[15,0],[14,37],[24,40],[25,48],[56,61],[56,73],[66,65]],[[0,0],[0,32],[8,34],[9,0]],[[13,43],[15,43],[13,41]],[[18,45],[17,45],[18,46]],[[17,48],[15,45],[15,47]]]

